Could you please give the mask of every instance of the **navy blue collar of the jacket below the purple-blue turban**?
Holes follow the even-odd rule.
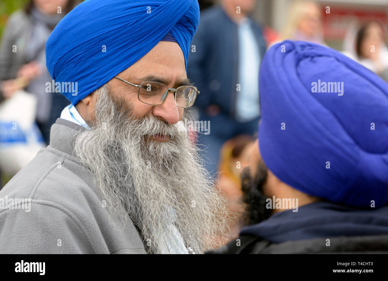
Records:
[[[319,237],[386,233],[388,205],[376,210],[366,210],[319,201],[299,207],[298,212],[278,212],[265,221],[243,228],[240,235],[250,234],[282,243]]]

